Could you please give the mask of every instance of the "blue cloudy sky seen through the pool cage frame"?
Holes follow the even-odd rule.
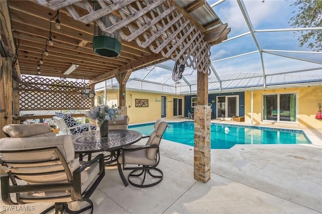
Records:
[[[217,1],[207,1],[211,6]],[[289,29],[290,18],[296,10],[291,4],[293,0],[247,0],[243,1],[246,11],[250,17],[251,24],[255,30],[267,29]],[[249,32],[249,28],[243,14],[235,0],[226,0],[213,7],[223,24],[227,23],[231,28],[228,34],[228,40],[221,44],[211,47],[212,65],[219,76],[240,72],[263,73],[260,53],[251,34],[230,40],[230,38]],[[295,31],[283,32],[258,32],[255,33],[256,39],[263,53],[264,72],[274,74],[280,72],[299,71],[302,69],[321,68],[322,54],[316,53],[291,53],[287,51],[309,51],[306,46],[299,47]],[[251,53],[255,52],[255,53]],[[248,54],[250,53],[250,54]],[[246,54],[246,55],[244,55]],[[231,59],[236,55],[243,55]],[[282,56],[279,56],[282,55]],[[283,57],[287,56],[287,57]],[[291,57],[291,58],[289,58]],[[295,59],[293,59],[295,58]],[[306,62],[297,59],[305,59],[318,63]],[[162,65],[173,69],[175,62],[170,60]],[[152,67],[135,71],[130,78],[143,78]],[[322,75],[322,69],[315,71],[297,72],[298,75]],[[145,77],[145,80],[154,82],[164,82],[172,84],[172,70],[166,70],[160,67],[154,67]],[[192,68],[186,68],[184,77],[189,80],[196,80],[196,71]],[[213,78],[212,73],[209,78]]]

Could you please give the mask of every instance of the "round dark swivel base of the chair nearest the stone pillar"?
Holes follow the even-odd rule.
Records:
[[[150,170],[147,170],[147,169],[143,169],[143,170],[133,170],[133,171],[131,171],[130,173],[129,173],[129,175],[128,175],[128,181],[129,181],[129,183],[131,184],[131,185],[133,185],[133,186],[136,186],[136,187],[140,187],[140,188],[145,188],[145,187],[151,187],[151,186],[154,186],[154,185],[156,185],[156,184],[158,184],[158,183],[160,183],[161,181],[162,181],[162,179],[163,179],[163,172],[160,170],[160,169],[158,169],[158,168],[154,168],[154,169],[151,169],[151,170],[156,170],[156,171],[158,171],[159,172],[159,174],[160,175],[154,175],[154,174],[152,174],[151,172],[150,172]],[[140,173],[136,173],[137,171],[140,171]],[[153,178],[158,178],[155,182],[153,182],[153,183],[148,183],[148,184],[144,184],[144,182],[146,181],[146,172],[151,176],[151,177],[153,177]],[[141,178],[141,183],[140,184],[138,184],[138,183],[135,183],[134,181],[133,181],[133,178],[134,177],[140,177],[142,174],[144,173],[144,175],[143,175],[143,178]],[[132,180],[131,180],[132,179]]]

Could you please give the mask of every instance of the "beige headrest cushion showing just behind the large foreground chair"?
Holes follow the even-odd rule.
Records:
[[[37,124],[10,124],[3,128],[3,131],[11,138],[26,137],[53,137],[55,133],[51,132],[51,128],[42,123]]]

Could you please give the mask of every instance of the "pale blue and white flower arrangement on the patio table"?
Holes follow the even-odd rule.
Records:
[[[107,120],[123,120],[123,116],[118,116],[121,113],[121,110],[117,109],[116,104],[112,106],[100,104],[98,106],[93,106],[90,109],[90,112],[86,114],[89,119],[97,120],[99,127],[101,127],[104,121]]]

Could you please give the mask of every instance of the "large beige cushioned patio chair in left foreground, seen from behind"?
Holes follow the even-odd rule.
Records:
[[[63,210],[80,213],[88,209],[93,212],[89,198],[105,176],[103,154],[88,162],[74,159],[70,135],[2,138],[0,146],[5,170],[1,175],[1,194],[5,204],[53,202],[41,213],[53,208],[55,213]],[[73,201],[86,201],[86,206],[71,210]]]

